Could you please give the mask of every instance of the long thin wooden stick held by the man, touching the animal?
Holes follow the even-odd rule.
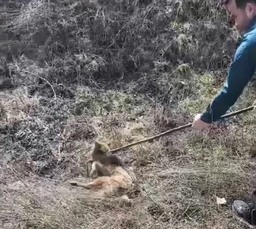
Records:
[[[255,106],[251,106],[251,107],[248,107],[248,108],[236,111],[236,112],[232,112],[232,113],[229,113],[229,114],[224,114],[224,115],[221,116],[221,118],[230,117],[230,116],[234,116],[234,115],[237,115],[237,114],[241,114],[241,113],[245,113],[245,112],[248,112],[248,111],[252,111],[254,109],[254,107]],[[176,127],[174,129],[167,130],[167,131],[165,131],[165,132],[163,132],[161,134],[155,135],[153,137],[146,138],[146,139],[143,139],[143,140],[135,142],[135,143],[130,143],[130,144],[124,145],[124,146],[119,147],[119,148],[111,149],[110,152],[116,152],[116,151],[119,151],[121,149],[129,148],[129,147],[137,145],[137,144],[141,144],[141,143],[145,143],[145,142],[150,142],[150,141],[152,141],[154,139],[158,139],[158,138],[160,138],[162,136],[169,135],[169,134],[171,134],[173,132],[176,132],[178,130],[183,130],[183,129],[187,128],[187,127],[191,127],[192,124],[193,123],[189,123],[189,124],[186,124],[186,125],[183,125],[183,126],[180,126],[180,127]]]

